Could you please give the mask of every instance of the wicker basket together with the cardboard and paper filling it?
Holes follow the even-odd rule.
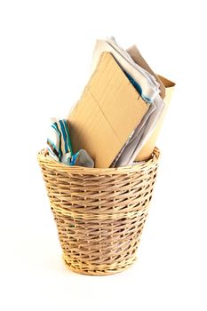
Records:
[[[80,100],[68,118],[52,119],[38,161],[71,270],[109,275],[136,259],[173,86],[136,46],[99,40]]]

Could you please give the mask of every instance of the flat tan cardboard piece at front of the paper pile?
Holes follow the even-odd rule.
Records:
[[[83,148],[95,167],[109,167],[148,108],[114,57],[103,52],[68,116],[74,152]]]

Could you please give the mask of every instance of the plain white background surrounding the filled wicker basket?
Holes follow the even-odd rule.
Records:
[[[0,2],[0,309],[206,310],[205,1]],[[177,86],[136,264],[70,272],[36,154],[87,82],[96,38],[137,44]]]

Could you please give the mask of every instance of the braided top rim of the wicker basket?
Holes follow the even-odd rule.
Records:
[[[132,171],[138,171],[148,169],[148,167],[152,167],[154,164],[157,165],[158,160],[160,157],[160,150],[158,148],[154,148],[154,151],[152,153],[152,156],[147,161],[141,161],[136,163],[132,166],[121,166],[121,167],[113,167],[113,168],[91,168],[91,167],[84,167],[84,166],[68,166],[64,163],[57,162],[52,159],[51,156],[45,156],[44,155],[44,149],[41,150],[37,154],[37,160],[41,166],[46,166],[50,169],[56,170],[56,171],[64,171],[68,172],[70,174],[73,173],[80,173],[80,174],[116,174],[116,173],[128,173]]]

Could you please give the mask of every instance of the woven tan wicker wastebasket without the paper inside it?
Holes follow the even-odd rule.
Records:
[[[134,166],[67,166],[38,154],[63,259],[84,275],[110,275],[136,259],[155,184],[159,150]]]

